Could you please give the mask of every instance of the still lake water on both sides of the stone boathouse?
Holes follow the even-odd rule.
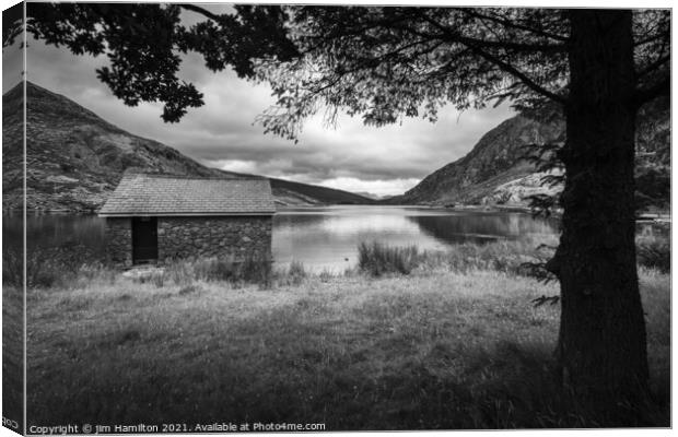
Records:
[[[32,215],[28,247],[83,245],[94,258],[105,256],[104,221],[93,215]],[[464,241],[549,235],[554,221],[496,211],[455,211],[416,206],[326,206],[280,210],[273,217],[272,252],[277,265],[292,260],[313,270],[337,272],[356,262],[360,241],[445,249]],[[21,215],[3,215],[5,245],[21,244]]]

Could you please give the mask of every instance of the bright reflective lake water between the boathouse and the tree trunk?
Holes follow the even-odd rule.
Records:
[[[279,265],[300,260],[340,271],[356,262],[360,241],[445,249],[451,244],[492,241],[556,233],[557,223],[529,214],[401,206],[328,206],[281,211],[273,222]]]

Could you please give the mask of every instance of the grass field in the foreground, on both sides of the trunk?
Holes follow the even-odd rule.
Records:
[[[615,425],[553,383],[559,307],[530,300],[557,284],[460,259],[379,277],[296,265],[265,287],[97,273],[32,290],[28,425]],[[655,397],[644,424],[668,426],[669,275],[641,268],[641,288]]]

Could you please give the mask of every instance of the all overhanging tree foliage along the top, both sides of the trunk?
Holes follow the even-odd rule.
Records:
[[[202,20],[187,27],[187,13]],[[3,46],[20,25],[4,26]],[[566,10],[236,5],[215,14],[197,4],[31,3],[26,29],[75,55],[106,56],[98,78],[127,105],[163,103],[165,121],[203,104],[178,78],[183,54],[198,52],[212,71],[269,83],[277,104],[259,121],[289,139],[323,108],[329,122],[344,110],[382,126],[435,120],[446,104],[545,111],[568,101]],[[667,10],[634,12],[639,105],[668,93],[669,31]]]

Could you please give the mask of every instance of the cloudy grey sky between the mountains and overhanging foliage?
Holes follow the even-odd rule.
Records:
[[[184,17],[197,19],[191,15]],[[20,59],[16,47],[4,49],[3,93],[21,80]],[[160,104],[131,108],[116,99],[96,79],[95,69],[106,63],[105,57],[74,56],[33,40],[27,79],[204,165],[378,196],[402,193],[464,156],[483,133],[512,116],[506,106],[461,114],[446,107],[436,123],[408,118],[401,125],[374,128],[363,126],[360,118],[340,116],[336,129],[326,128],[318,116],[306,121],[294,144],[264,134],[262,127],[254,123],[273,103],[268,86],[237,79],[232,71],[212,73],[195,54],[186,57],[180,78],[204,94],[204,106],[189,109],[174,125],[162,121]]]

